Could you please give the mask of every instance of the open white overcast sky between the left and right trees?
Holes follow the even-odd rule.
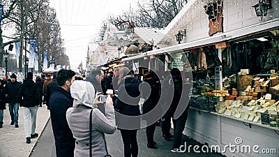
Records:
[[[62,38],[65,40],[66,54],[72,68],[80,62],[86,63],[89,42],[97,35],[107,15],[120,15],[137,0],[50,0],[56,9],[61,24]]]

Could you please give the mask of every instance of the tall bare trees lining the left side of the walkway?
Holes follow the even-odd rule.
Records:
[[[43,52],[46,50],[50,53],[49,56],[56,58],[56,61],[60,56],[63,56],[65,59],[60,58],[58,61],[66,63],[66,66],[70,64],[65,54],[65,48],[63,48],[61,27],[56,19],[54,8],[49,6],[49,0],[10,0],[10,2],[5,1],[4,5],[1,27],[4,30],[13,29],[15,33],[3,36],[0,29],[0,50],[2,52],[3,48],[10,43],[22,42],[20,71],[22,71],[22,52],[26,49],[24,40],[29,42],[30,38],[37,40],[36,50],[40,58],[39,67],[43,59]],[[2,37],[8,41],[3,43]],[[0,65],[2,61],[3,55],[0,55]]]

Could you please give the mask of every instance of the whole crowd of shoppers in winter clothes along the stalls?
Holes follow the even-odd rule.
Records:
[[[114,73],[93,68],[85,79],[77,76],[73,70],[66,69],[54,73],[52,78],[50,75],[45,80],[43,75],[41,77],[37,76],[33,80],[33,73],[29,72],[21,84],[13,74],[5,86],[0,80],[0,128],[3,126],[6,103],[10,111],[10,124],[19,127],[20,105],[23,109],[26,142],[30,143],[31,138],[38,137],[38,106],[45,103],[50,110],[58,157],[106,156],[109,152],[104,133],[112,134],[116,128],[121,132],[124,156],[138,156],[137,130],[141,128],[141,119],[146,121],[146,147],[158,148],[154,133],[160,120],[163,137],[173,141],[171,151],[184,151],[181,149],[181,137],[188,108],[183,108],[179,114],[176,110],[181,104],[187,105],[182,99],[188,96],[188,92],[183,91],[187,84],[183,83],[178,68],[163,75],[149,70],[142,81],[135,78],[134,71],[127,67]],[[113,92],[108,94],[107,89]],[[99,98],[104,95],[108,95],[105,97],[107,100],[101,102]],[[140,98],[144,99],[142,113]],[[159,117],[150,119],[149,112],[159,114]],[[174,135],[170,133],[171,119]]]

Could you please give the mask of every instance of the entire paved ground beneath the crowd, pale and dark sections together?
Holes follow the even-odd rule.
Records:
[[[20,107],[19,111],[20,128],[10,126],[8,106],[6,108],[4,110],[3,128],[0,128],[0,157],[56,157],[54,135],[51,121],[49,121],[50,111],[47,110],[46,105],[38,109],[36,133],[39,134],[39,137],[31,139],[31,144],[27,144],[24,137],[22,107]],[[120,131],[116,130],[114,134],[106,135],[106,139],[110,155],[113,157],[123,157],[123,142]],[[170,151],[172,149],[172,141],[163,139],[160,126],[156,126],[154,140],[157,142],[156,146],[158,149],[147,148],[145,129],[137,131],[139,157],[221,157],[220,154],[197,154],[193,151],[183,154],[172,153]],[[187,144],[199,144],[185,135],[183,135],[183,140],[186,140]]]

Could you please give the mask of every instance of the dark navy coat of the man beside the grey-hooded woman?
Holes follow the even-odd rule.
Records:
[[[66,111],[69,107],[73,107],[73,98],[70,93],[61,87],[55,87],[50,96],[50,118],[57,157],[74,156],[75,138],[66,119]]]

